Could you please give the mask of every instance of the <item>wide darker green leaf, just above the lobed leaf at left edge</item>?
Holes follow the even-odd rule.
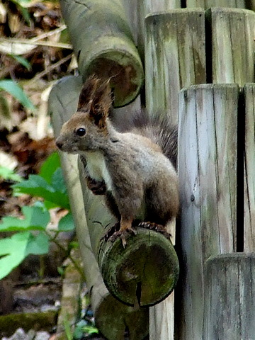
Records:
[[[62,187],[54,188],[39,175],[30,175],[27,181],[11,186],[18,193],[28,193],[31,196],[42,197],[55,204],[57,207],[69,210],[69,198],[62,192]]]

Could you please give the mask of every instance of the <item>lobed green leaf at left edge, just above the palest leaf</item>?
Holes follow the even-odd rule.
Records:
[[[24,230],[44,230],[50,222],[50,213],[39,207],[21,208],[24,219],[4,217],[0,223],[0,232],[20,232]]]

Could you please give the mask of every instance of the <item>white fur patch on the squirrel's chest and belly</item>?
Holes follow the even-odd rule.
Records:
[[[103,154],[100,151],[86,152],[85,157],[86,171],[89,172],[89,176],[96,181],[104,181],[106,183],[106,188],[111,191],[111,176],[108,172]]]

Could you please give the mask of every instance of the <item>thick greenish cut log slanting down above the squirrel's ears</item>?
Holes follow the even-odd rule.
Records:
[[[143,83],[142,62],[120,0],[61,0],[64,21],[85,80],[112,77],[115,106],[133,101]]]

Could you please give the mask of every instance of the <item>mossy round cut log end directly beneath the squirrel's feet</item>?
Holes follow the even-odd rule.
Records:
[[[174,289],[179,277],[179,261],[166,237],[137,228],[127,237],[123,249],[120,239],[102,242],[98,265],[108,290],[128,305],[155,305]]]

